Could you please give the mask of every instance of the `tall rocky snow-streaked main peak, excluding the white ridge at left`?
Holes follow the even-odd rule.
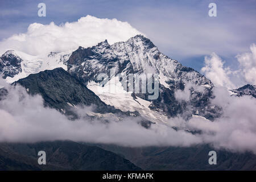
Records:
[[[101,100],[108,104],[117,106],[118,109],[126,109],[125,105],[115,105],[118,101],[128,101],[141,98],[146,102],[147,109],[150,109],[150,115],[163,115],[164,121],[168,117],[176,117],[182,115],[184,118],[192,117],[192,114],[199,113],[207,119],[214,119],[220,115],[220,108],[210,104],[212,96],[213,84],[192,68],[184,67],[178,61],[160,53],[158,48],[147,38],[142,35],[134,36],[127,42],[118,42],[110,46],[107,40],[98,43],[97,46],[82,48],[79,47],[72,52],[67,60],[68,72],[75,76],[88,88],[93,90],[97,87],[99,80],[97,76],[100,74],[109,75],[110,70],[114,69],[116,73],[128,76],[130,73],[158,73],[159,75],[159,97],[156,100],[149,100],[148,93],[134,93],[127,100],[126,94],[115,94],[110,97],[109,93],[102,93],[93,90]],[[138,80],[134,80],[136,82]],[[122,82],[122,86],[126,84],[134,84],[131,82]],[[187,86],[189,90],[189,99],[178,101],[175,93],[180,90],[182,92]],[[98,91],[98,92],[97,92]],[[110,98],[109,98],[110,97]],[[137,100],[137,102],[139,102]],[[139,102],[139,105],[143,105]],[[141,110],[141,109],[140,109]],[[147,110],[148,111],[148,110]],[[156,111],[156,112],[155,112]],[[141,112],[142,115],[148,113]]]

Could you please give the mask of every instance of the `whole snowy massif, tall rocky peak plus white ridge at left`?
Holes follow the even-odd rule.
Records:
[[[125,112],[138,111],[142,117],[152,122],[167,122],[168,118],[178,115],[185,119],[191,118],[193,114],[210,120],[220,117],[221,108],[210,103],[210,98],[214,97],[212,82],[194,69],[184,67],[178,61],[163,55],[150,39],[142,35],[113,45],[105,40],[93,47],[79,47],[73,52],[50,52],[47,56],[31,56],[13,50],[4,55],[10,55],[10,52],[16,56],[15,59],[22,60],[19,61],[21,72],[19,69],[13,77],[10,77],[11,73],[8,73],[9,76],[6,73],[5,78],[9,82],[27,77],[31,73],[61,67],[92,90],[105,104]],[[126,77],[130,74],[141,76],[144,73],[157,73],[159,90],[156,92],[159,97],[150,100],[149,96],[152,94],[148,90],[146,93],[135,93],[134,90],[126,92],[125,87],[136,84],[139,78],[125,82],[117,76],[119,81],[115,82],[114,87],[121,92],[110,92],[112,79],[115,78],[110,76],[112,69]],[[97,76],[104,73],[109,78],[100,85]],[[184,92],[188,98],[177,99],[176,94],[179,92]]]

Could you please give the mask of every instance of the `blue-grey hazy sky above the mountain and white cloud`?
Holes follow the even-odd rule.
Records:
[[[47,16],[38,16],[38,3]],[[208,5],[217,5],[217,17]],[[0,39],[27,31],[31,23],[75,22],[81,16],[117,18],[143,32],[159,50],[198,71],[204,56],[216,52],[231,68],[235,56],[256,43],[256,1],[3,1],[0,0]]]

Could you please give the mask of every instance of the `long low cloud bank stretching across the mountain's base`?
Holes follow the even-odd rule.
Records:
[[[3,83],[2,83],[3,85]],[[137,119],[129,117],[116,122],[114,117],[86,118],[89,107],[78,109],[84,119],[68,120],[55,109],[43,107],[40,96],[29,96],[24,88],[6,85],[9,94],[0,101],[0,142],[38,142],[42,140],[75,140],[118,144],[122,146],[191,146],[209,143],[216,148],[256,154],[256,100],[230,97],[225,88],[215,88],[212,101],[223,107],[224,114],[214,122],[193,117],[189,121],[170,119],[168,125],[152,125],[145,129]],[[182,130],[175,131],[171,126]],[[191,134],[184,130],[201,130]]]

